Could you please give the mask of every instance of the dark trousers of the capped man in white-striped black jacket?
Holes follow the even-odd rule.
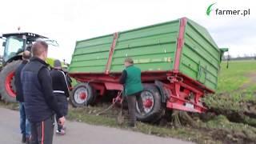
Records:
[[[68,105],[69,103],[67,102],[66,95],[65,94],[58,94],[54,93],[54,96],[57,98],[58,101],[58,107],[61,110],[62,114],[66,116],[68,112]],[[58,123],[58,118],[56,116],[56,122]],[[62,130],[63,126],[58,124],[58,131]]]

